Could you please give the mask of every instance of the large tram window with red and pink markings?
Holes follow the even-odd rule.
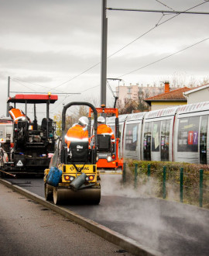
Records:
[[[178,129],[178,152],[198,151],[200,116],[180,119]]]

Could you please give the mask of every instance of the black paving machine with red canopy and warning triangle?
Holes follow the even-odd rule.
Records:
[[[8,103],[14,103],[14,108],[18,104],[25,105],[27,109],[33,106],[33,121],[28,119],[7,120],[5,127],[7,134],[1,144],[1,173],[2,174],[43,174],[45,168],[50,164],[50,157],[54,153],[56,144],[55,122],[50,119],[50,104],[58,99],[57,95],[50,93],[45,95],[17,94],[9,97]],[[36,105],[46,105],[46,115],[38,125],[36,116]],[[42,115],[43,116],[43,115]],[[1,126],[1,130],[4,130]],[[1,131],[0,131],[1,132]],[[8,133],[9,132],[9,133]],[[5,154],[7,159],[5,161]]]

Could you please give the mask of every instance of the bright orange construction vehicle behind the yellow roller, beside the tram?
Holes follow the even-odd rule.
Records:
[[[106,108],[105,105],[101,105],[101,108],[96,108],[98,115],[114,116],[115,117],[115,142],[111,142],[111,136],[109,134],[98,134],[98,153],[97,153],[97,167],[103,171],[115,170],[122,171],[123,158],[119,157],[119,123],[118,123],[118,109]],[[91,109],[89,111],[89,117],[91,117]]]

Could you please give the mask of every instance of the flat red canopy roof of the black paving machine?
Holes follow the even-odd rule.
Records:
[[[16,94],[14,97],[9,97],[7,99],[7,102],[12,103],[33,103],[33,104],[39,104],[39,103],[54,103],[58,99],[57,95],[51,95],[51,94]]]

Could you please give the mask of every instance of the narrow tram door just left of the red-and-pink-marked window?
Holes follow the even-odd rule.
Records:
[[[160,157],[161,161],[169,161],[170,120],[161,123]]]

